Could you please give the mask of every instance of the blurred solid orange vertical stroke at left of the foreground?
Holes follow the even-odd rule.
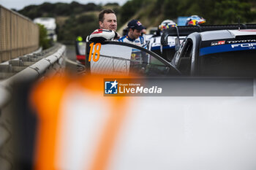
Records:
[[[54,160],[59,106],[68,82],[66,78],[53,77],[39,83],[32,93],[31,101],[39,115],[35,169],[56,169]]]

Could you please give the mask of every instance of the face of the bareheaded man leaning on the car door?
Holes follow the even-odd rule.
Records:
[[[104,14],[103,22],[99,21],[99,28],[101,29],[109,29],[116,31],[117,20],[116,15],[113,13]]]

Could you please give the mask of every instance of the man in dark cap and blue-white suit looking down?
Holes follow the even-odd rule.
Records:
[[[127,26],[129,29],[128,34],[126,36],[122,36],[120,39],[118,39],[118,41],[128,42],[146,48],[146,40],[144,36],[141,35],[145,27],[140,23],[140,21],[131,20]]]

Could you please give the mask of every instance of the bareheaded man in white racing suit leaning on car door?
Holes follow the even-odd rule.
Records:
[[[112,9],[103,9],[99,12],[99,29],[95,30],[86,41],[104,42],[105,40],[118,39],[116,33],[117,20],[116,14]]]

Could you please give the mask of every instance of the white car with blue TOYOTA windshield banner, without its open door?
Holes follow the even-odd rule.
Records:
[[[187,76],[255,77],[255,57],[256,29],[204,31],[189,34],[171,63]]]

